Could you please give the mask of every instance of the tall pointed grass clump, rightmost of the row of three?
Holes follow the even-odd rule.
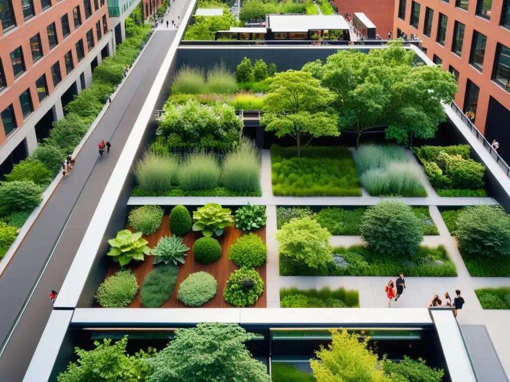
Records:
[[[232,191],[254,192],[260,190],[260,150],[249,140],[229,152],[223,160],[223,185]]]

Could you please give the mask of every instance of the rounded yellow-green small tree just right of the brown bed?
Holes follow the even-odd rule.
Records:
[[[311,217],[292,219],[276,232],[280,256],[310,268],[325,266],[333,260],[331,234]]]

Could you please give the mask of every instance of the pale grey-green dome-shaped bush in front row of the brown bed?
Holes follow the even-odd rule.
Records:
[[[190,274],[179,286],[177,298],[187,307],[199,307],[216,295],[218,283],[207,272]]]

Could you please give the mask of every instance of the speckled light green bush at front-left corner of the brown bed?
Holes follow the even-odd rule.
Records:
[[[97,288],[95,299],[103,308],[125,308],[135,298],[138,283],[131,269],[120,269]]]

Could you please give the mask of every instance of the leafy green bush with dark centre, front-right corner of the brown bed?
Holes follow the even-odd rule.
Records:
[[[236,307],[246,307],[257,302],[264,291],[264,281],[254,269],[235,270],[226,282],[223,298]]]

